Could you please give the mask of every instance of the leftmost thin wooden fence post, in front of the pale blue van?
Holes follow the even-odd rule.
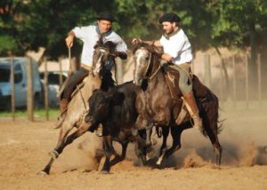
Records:
[[[11,108],[12,108],[12,121],[15,121],[15,72],[14,72],[14,57],[11,57]]]

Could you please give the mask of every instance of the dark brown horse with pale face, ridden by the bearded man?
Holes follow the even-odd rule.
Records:
[[[190,115],[183,106],[182,93],[178,84],[179,72],[171,67],[160,64],[158,49],[148,44],[139,44],[134,48],[134,83],[143,85],[143,91],[136,99],[138,118],[137,130],[150,131],[153,126],[161,127],[163,144],[160,147],[158,164],[181,148],[182,131],[192,127]],[[208,136],[215,154],[215,162],[221,163],[222,146],[218,133],[222,127],[218,126],[219,103],[217,97],[193,75],[193,92],[197,99],[199,115],[203,122],[203,135]],[[166,139],[171,130],[173,145],[166,150]],[[149,137],[149,136],[147,136]],[[147,139],[149,141],[150,139]]]

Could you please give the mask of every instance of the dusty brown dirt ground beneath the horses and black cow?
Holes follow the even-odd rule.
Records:
[[[86,133],[64,150],[49,176],[36,173],[44,168],[50,158],[48,152],[56,145],[59,130],[53,129],[54,121],[29,123],[0,118],[0,189],[266,190],[266,114],[263,109],[224,110],[220,167],[213,163],[209,140],[190,129],[182,134],[182,148],[163,164],[163,169],[134,166],[134,146],[130,145],[127,159],[114,165],[109,175],[103,175],[93,160],[101,139]],[[120,151],[119,146],[116,149]]]

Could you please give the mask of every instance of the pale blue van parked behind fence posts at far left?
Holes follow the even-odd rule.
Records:
[[[11,109],[11,58],[0,58],[0,109]],[[27,106],[27,64],[28,58],[14,57],[15,107]],[[37,63],[32,59],[33,93],[35,107],[39,106],[41,81]]]

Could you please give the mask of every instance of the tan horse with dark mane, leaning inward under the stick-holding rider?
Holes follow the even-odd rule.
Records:
[[[77,91],[73,92],[73,97],[69,102],[65,119],[61,124],[58,143],[49,154],[51,155],[50,161],[45,165],[44,170],[39,173],[49,174],[52,164],[56,158],[62,153],[65,146],[68,146],[83,135],[86,131],[94,131],[97,126],[88,125],[85,123],[85,114],[88,112],[88,99],[91,97],[93,90],[102,89],[108,91],[109,88],[115,86],[111,74],[108,72],[109,59],[114,59],[113,52],[115,51],[115,44],[108,41],[103,43],[102,39],[94,46],[93,54],[93,70],[84,79],[84,84],[77,86]],[[77,131],[69,134],[74,127]]]

